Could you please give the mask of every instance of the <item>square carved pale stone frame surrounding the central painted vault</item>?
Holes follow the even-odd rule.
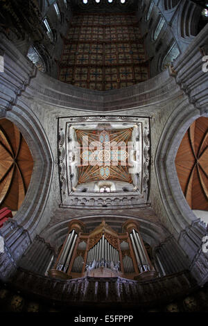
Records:
[[[99,191],[82,192],[76,189],[76,183],[73,183],[74,173],[72,173],[71,162],[74,160],[73,146],[71,145],[71,138],[73,130],[77,126],[110,126],[116,123],[123,129],[126,125],[137,126],[139,144],[142,144],[139,149],[139,164],[141,164],[141,171],[135,173],[135,187],[130,191],[113,191],[112,193]],[[116,128],[116,127],[114,127]],[[72,132],[72,134],[71,134]],[[71,147],[72,146],[72,147]],[[137,162],[137,161],[136,161]],[[74,166],[74,164],[73,164]],[[75,165],[76,166],[76,165]],[[149,119],[144,117],[128,117],[128,116],[80,116],[80,117],[60,117],[58,118],[58,167],[60,180],[60,207],[63,208],[77,208],[82,207],[99,209],[99,207],[110,208],[130,208],[130,207],[145,207],[148,204],[149,192],[149,174],[150,174],[150,129]],[[78,169],[78,167],[76,167]],[[85,183],[83,183],[83,187]]]

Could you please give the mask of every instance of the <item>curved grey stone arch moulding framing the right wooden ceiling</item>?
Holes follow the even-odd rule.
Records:
[[[157,182],[166,210],[164,221],[176,239],[179,239],[184,230],[199,221],[184,198],[175,168],[175,157],[182,138],[198,117],[199,111],[188,100],[183,101],[169,117],[155,155]]]

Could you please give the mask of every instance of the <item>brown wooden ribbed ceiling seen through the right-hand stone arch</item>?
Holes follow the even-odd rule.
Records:
[[[191,209],[208,210],[208,118],[200,117],[187,130],[175,166]]]

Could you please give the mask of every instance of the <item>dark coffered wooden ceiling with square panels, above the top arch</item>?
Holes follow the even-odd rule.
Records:
[[[149,60],[133,14],[76,14],[63,37],[59,79],[105,91],[149,78]]]

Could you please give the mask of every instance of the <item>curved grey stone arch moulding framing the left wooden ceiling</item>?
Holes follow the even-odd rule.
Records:
[[[2,113],[4,114],[3,110]],[[0,110],[0,116],[2,116]],[[11,223],[21,226],[31,237],[35,237],[35,228],[42,218],[44,207],[49,196],[51,178],[53,175],[53,155],[49,141],[44,134],[40,121],[31,109],[21,101],[6,111],[4,117],[17,126],[28,144],[33,157],[33,173],[26,197],[20,209],[12,220],[10,218],[1,228],[1,234],[6,237]],[[13,228],[13,227],[12,227]]]

